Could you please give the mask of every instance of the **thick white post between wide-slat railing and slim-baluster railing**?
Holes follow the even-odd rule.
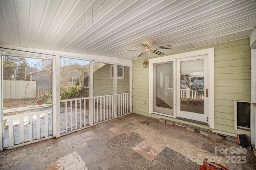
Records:
[[[52,60],[52,135],[60,137],[60,56]]]

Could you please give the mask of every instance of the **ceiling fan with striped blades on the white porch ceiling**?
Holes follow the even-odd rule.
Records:
[[[140,55],[138,57],[141,57],[142,55],[144,55],[145,53],[151,52],[151,53],[155,53],[157,55],[163,55],[164,53],[162,53],[161,51],[157,51],[159,49],[171,49],[172,47],[170,45],[164,45],[164,46],[159,46],[159,47],[153,47],[154,42],[153,41],[145,41],[143,43],[140,43],[144,49],[138,49],[138,50],[126,50],[126,51],[140,51],[140,50],[144,50],[144,52],[140,53]]]

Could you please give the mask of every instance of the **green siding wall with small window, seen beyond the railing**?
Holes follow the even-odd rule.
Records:
[[[93,74],[93,95],[113,94],[113,79],[110,79],[110,66],[106,64]],[[124,79],[117,79],[117,93],[129,92],[129,67],[124,67]]]

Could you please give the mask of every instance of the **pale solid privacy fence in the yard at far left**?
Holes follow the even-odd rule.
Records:
[[[36,98],[36,81],[3,80],[3,98]]]

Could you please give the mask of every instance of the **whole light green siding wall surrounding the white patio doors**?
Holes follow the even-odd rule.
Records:
[[[250,102],[250,39],[241,39],[202,48],[186,50],[166,55],[174,55],[214,47],[215,64],[215,129],[228,133],[234,130],[234,100]],[[166,56],[166,55],[162,55]],[[156,57],[152,57],[156,58]],[[148,68],[143,68],[144,59],[133,61],[133,112],[154,117],[166,118],[209,129],[208,126],[198,125],[170,117],[149,114],[149,80]]]

